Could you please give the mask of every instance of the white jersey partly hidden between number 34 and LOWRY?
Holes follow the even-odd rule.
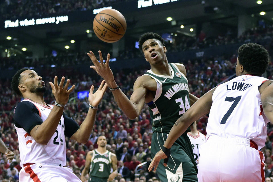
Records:
[[[189,139],[191,140],[191,146],[193,147],[193,156],[195,159],[195,163],[198,164],[198,160],[199,160],[199,148],[200,145],[202,145],[203,143],[205,143],[206,141],[206,136],[202,133],[200,133],[198,131],[198,135],[196,137],[194,137],[193,135],[191,135],[191,133],[187,133]]]

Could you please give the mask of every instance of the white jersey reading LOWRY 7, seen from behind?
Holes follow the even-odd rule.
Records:
[[[260,150],[266,140],[269,120],[264,115],[258,90],[266,78],[242,75],[220,84],[212,95],[207,138],[248,138]]]

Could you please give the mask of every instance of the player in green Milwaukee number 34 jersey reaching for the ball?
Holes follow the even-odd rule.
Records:
[[[189,109],[190,103],[194,104],[198,98],[189,94],[184,65],[168,63],[164,40],[158,34],[145,33],[138,43],[151,69],[137,78],[130,100],[114,80],[109,67],[110,54],[107,54],[106,63],[103,63],[101,51],[99,51],[100,62],[92,51],[88,53],[88,56],[94,63],[94,66],[90,67],[104,78],[118,106],[129,119],[138,117],[144,104],[148,104],[153,120],[151,154],[154,157],[162,148],[175,121]],[[197,166],[187,132],[176,140],[171,148],[171,154],[167,167],[163,166],[162,161],[158,166],[157,174],[160,180],[164,182],[198,181]]]

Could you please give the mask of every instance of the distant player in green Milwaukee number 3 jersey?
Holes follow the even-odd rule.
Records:
[[[113,181],[117,175],[117,157],[112,152],[106,150],[106,137],[98,137],[98,149],[89,151],[86,154],[85,167],[82,170],[81,180],[85,182],[85,176],[89,169],[88,182],[108,182]],[[110,174],[111,167],[113,172]]]

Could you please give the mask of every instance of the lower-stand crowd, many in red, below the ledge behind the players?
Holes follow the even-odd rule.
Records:
[[[189,91],[197,97],[202,96],[208,90],[226,80],[230,75],[234,74],[237,56],[230,57],[214,57],[203,58],[200,60],[187,60],[182,62],[187,70],[187,78],[189,80]],[[147,68],[148,69],[148,68]],[[115,79],[120,88],[125,94],[130,97],[133,90],[133,83],[136,78],[146,70],[135,68],[135,70],[119,70],[114,73]],[[73,84],[76,84],[75,91],[71,94],[71,100],[65,107],[65,112],[69,117],[75,119],[80,125],[86,116],[88,110],[87,98],[80,100],[73,98],[78,91],[89,90],[93,84],[98,88],[102,81],[99,76],[96,76],[94,71],[90,71],[90,75],[67,69],[51,68],[51,71],[45,69],[43,73],[38,73],[43,76],[46,83],[52,81],[54,74],[62,76],[69,75]],[[267,70],[268,78],[273,74],[272,63]],[[74,80],[74,81],[73,81]],[[16,157],[14,162],[9,163],[5,155],[1,156],[0,160],[0,180],[10,179],[10,181],[18,181],[18,171],[20,171],[20,157],[18,151],[18,139],[13,125],[13,109],[21,98],[16,96],[10,87],[11,79],[1,79],[0,81],[0,101],[1,101],[1,120],[0,133],[2,140],[9,148],[15,152]],[[47,91],[45,93],[45,101],[48,104],[54,102],[54,97],[51,94],[49,84],[46,84]],[[204,116],[197,122],[197,129],[206,134],[207,116]],[[66,138],[67,145],[67,167],[71,167],[74,173],[80,176],[80,171],[85,164],[85,155],[88,151],[97,148],[96,139],[100,135],[105,135],[107,138],[107,149],[117,155],[119,160],[119,169],[123,167],[123,173],[119,174],[115,182],[135,180],[135,167],[144,162],[150,161],[150,143],[152,135],[152,125],[148,107],[144,107],[139,117],[134,120],[129,120],[114,102],[111,92],[107,91],[96,115],[94,130],[90,139],[86,144],[79,144],[74,140]],[[268,124],[268,140],[266,148],[264,148],[266,165],[270,169],[272,163],[272,141],[273,141],[273,125]],[[149,163],[148,163],[149,164]],[[147,172],[148,164],[142,166],[138,171],[139,176],[136,176],[138,181],[156,180],[153,172]],[[128,168],[128,169],[127,169]],[[129,171],[129,173],[125,172]],[[272,170],[273,171],[273,170]],[[268,172],[266,172],[267,174]],[[268,174],[271,175],[271,174]],[[140,179],[138,179],[140,178]],[[142,178],[142,179],[141,179]],[[136,180],[135,180],[136,181]]]

